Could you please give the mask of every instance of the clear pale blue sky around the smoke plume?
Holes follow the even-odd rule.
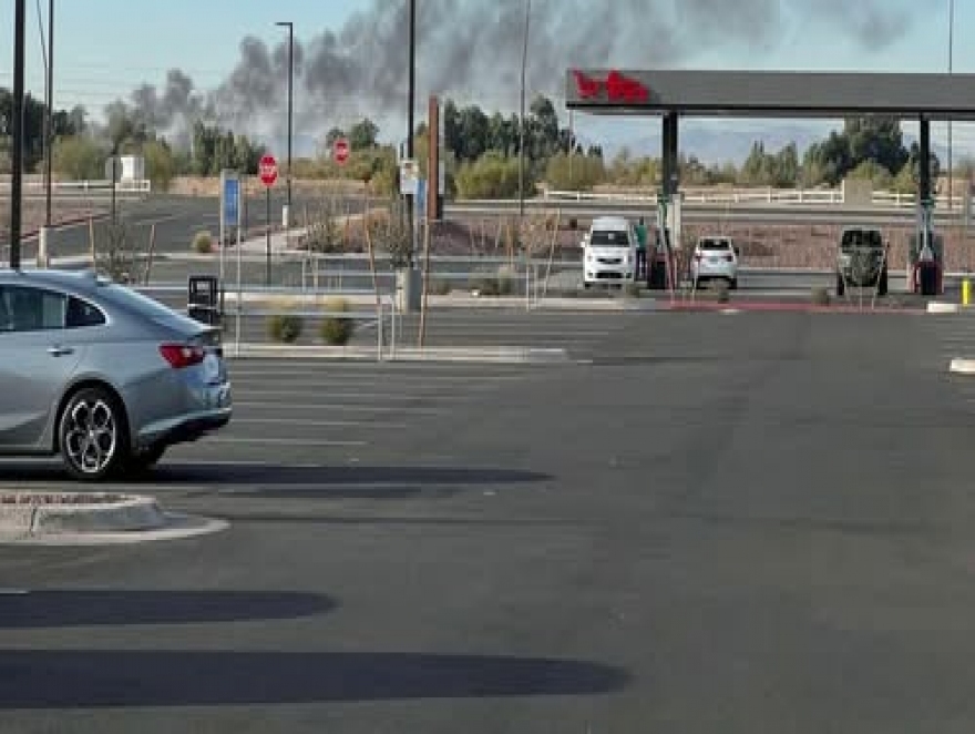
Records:
[[[819,3],[827,0],[808,1]],[[904,1],[887,0],[887,3],[894,7]],[[925,0],[926,17],[916,17],[915,20],[921,22],[913,23],[900,40],[880,51],[864,50],[853,40],[841,38],[834,27],[808,23],[794,27],[791,35],[772,48],[705,43],[701,51],[686,59],[682,65],[701,69],[946,71],[948,1]],[[35,2],[28,0],[27,79],[28,88],[40,96],[43,93],[43,64]],[[856,4],[856,0],[850,2]],[[48,0],[41,0],[43,13],[47,4]],[[290,20],[295,23],[296,35],[308,40],[326,29],[340,29],[350,13],[370,4],[370,0],[57,0],[55,104],[68,108],[80,103],[95,112],[114,99],[127,96],[142,82],[161,83],[172,67],[188,72],[198,86],[212,88],[237,61],[238,42],[244,35],[254,34],[275,43],[286,33],[285,29],[275,27],[275,21]],[[0,0],[0,8],[2,17],[12,21],[13,0]],[[0,35],[0,85],[6,86],[11,83],[11,26],[12,22],[4,22],[7,31]],[[971,43],[973,28],[975,2],[956,0],[956,72],[975,72],[975,44]],[[491,106],[490,102],[484,106]],[[823,130],[823,123],[791,121],[697,124],[705,129],[717,125],[742,133],[753,131],[756,135],[781,130],[783,124]],[[610,146],[656,134],[656,126],[645,121],[605,122],[579,118],[576,126],[581,134],[606,141]],[[905,124],[909,134],[915,128]],[[942,128],[936,128],[933,133],[935,143],[944,142]],[[961,153],[975,153],[975,128],[955,124],[954,137]]]

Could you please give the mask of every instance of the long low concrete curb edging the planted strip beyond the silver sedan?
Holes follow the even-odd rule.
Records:
[[[233,345],[225,350],[230,358],[275,357],[280,359],[368,359],[377,361],[374,347],[327,347],[315,345],[242,344],[239,354]],[[463,361],[492,364],[568,364],[563,348],[536,347],[387,347],[384,361]]]

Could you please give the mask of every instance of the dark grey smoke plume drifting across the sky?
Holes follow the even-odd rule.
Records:
[[[845,37],[865,51],[876,50],[906,32],[907,1],[533,0],[527,90],[558,99],[571,65],[680,67],[714,49],[766,52],[810,24],[829,26],[834,40]],[[430,93],[486,110],[515,109],[525,0],[420,0],[417,6],[418,119]],[[380,124],[402,120],[407,7],[406,0],[374,0],[340,30],[295,41],[296,131],[320,135],[366,115]],[[269,49],[248,37],[217,89],[202,92],[174,70],[162,92],[152,85],[137,89],[132,106],[158,130],[185,133],[206,118],[280,140],[287,71],[286,41]]]

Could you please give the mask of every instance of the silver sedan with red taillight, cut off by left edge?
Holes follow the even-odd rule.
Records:
[[[91,272],[0,269],[0,453],[99,480],[232,411],[216,328]]]

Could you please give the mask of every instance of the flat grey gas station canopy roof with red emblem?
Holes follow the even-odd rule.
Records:
[[[975,74],[572,69],[566,106],[594,114],[975,120]]]

